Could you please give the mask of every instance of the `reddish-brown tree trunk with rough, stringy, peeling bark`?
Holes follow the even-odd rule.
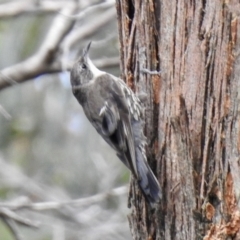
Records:
[[[147,93],[163,189],[152,211],[131,183],[133,239],[240,239],[239,3],[116,2],[123,79]]]

